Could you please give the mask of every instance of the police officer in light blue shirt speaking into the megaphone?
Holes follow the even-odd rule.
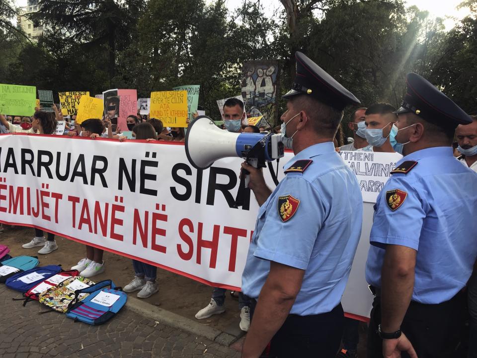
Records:
[[[256,304],[242,357],[334,357],[340,304],[361,233],[362,199],[335,152],[343,108],[359,100],[300,52],[282,115],[283,142],[295,157],[273,192],[262,172],[249,187],[260,205],[242,290]],[[254,306],[254,304],[252,304]]]

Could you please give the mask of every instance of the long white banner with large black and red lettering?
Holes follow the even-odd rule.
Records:
[[[279,180],[292,157],[288,152],[281,160]],[[389,160],[378,157],[380,163]],[[233,207],[241,162],[222,159],[197,171],[180,142],[0,135],[0,221],[238,289],[258,212],[249,190],[243,207]],[[263,172],[273,188],[269,172]],[[369,317],[364,263],[372,209],[365,210],[364,220],[343,306]]]

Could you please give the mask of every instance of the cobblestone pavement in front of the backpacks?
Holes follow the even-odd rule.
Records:
[[[126,307],[101,326],[75,323],[38,302],[13,301],[20,293],[0,284],[0,357],[240,357],[206,338],[155,323]]]

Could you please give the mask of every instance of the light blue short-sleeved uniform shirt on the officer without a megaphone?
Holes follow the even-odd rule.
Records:
[[[385,244],[417,251],[412,300],[437,304],[467,283],[477,257],[477,174],[457,161],[450,147],[422,149],[402,158],[417,161],[407,174],[386,182],[376,202],[366,280],[381,287]],[[386,191],[407,193],[396,210]]]

